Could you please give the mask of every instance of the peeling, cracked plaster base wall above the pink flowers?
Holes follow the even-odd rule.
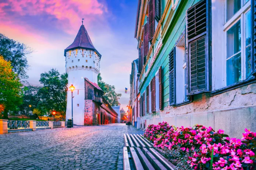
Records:
[[[163,111],[141,117],[140,123],[193,126],[201,124],[223,129],[231,137],[241,138],[244,129],[256,131],[256,83],[218,95],[194,96],[192,103],[168,106]]]

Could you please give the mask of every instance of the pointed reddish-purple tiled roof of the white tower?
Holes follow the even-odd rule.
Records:
[[[84,49],[93,50],[93,51],[97,52],[98,55],[101,57],[100,53],[93,46],[92,41],[90,40],[90,37],[89,37],[84,25],[81,25],[81,27],[77,33],[77,36],[75,37],[74,42],[65,49],[64,55],[66,55],[66,52],[68,50],[72,50],[72,49],[76,49],[76,48],[84,48]]]

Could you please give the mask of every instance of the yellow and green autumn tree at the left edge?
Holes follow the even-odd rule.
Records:
[[[12,71],[10,61],[0,56],[0,105],[3,119],[8,119],[8,113],[17,110],[22,103],[22,84],[17,74]]]

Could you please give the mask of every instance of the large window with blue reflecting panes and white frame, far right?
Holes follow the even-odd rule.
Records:
[[[232,85],[249,77],[252,71],[251,10],[248,0],[227,0],[227,19],[224,25],[226,37],[226,85]],[[236,16],[233,17],[233,15]]]

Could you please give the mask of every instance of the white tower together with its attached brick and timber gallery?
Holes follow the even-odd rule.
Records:
[[[73,85],[73,121],[75,125],[117,122],[117,113],[103,97],[97,85],[101,55],[81,25],[74,42],[64,50],[68,87]],[[71,119],[71,90],[67,92],[66,120]]]

